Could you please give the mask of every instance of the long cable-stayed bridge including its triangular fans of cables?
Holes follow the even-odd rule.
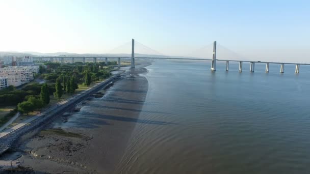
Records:
[[[213,47],[213,48],[211,48]],[[218,51],[218,53],[217,53]],[[131,55],[128,54],[131,52]],[[210,55],[210,58],[205,58],[203,55]],[[220,57],[226,57],[226,59],[217,59],[217,54]],[[117,56],[116,56],[117,55]],[[212,57],[211,57],[212,55]],[[198,58],[201,57],[201,58]],[[229,58],[230,57],[230,58]],[[206,47],[200,48],[189,53],[187,56],[166,56],[159,51],[156,51],[152,48],[149,48],[139,42],[135,42],[132,39],[132,42],[125,43],[120,45],[119,47],[114,48],[113,50],[109,51],[109,54],[99,55],[99,56],[38,56],[33,57],[34,60],[43,62],[55,62],[59,61],[62,64],[64,63],[74,63],[77,60],[85,63],[86,60],[91,59],[94,63],[97,61],[105,61],[108,64],[108,59],[118,59],[118,66],[121,66],[121,59],[130,59],[131,60],[131,68],[135,68],[135,59],[165,59],[165,60],[192,60],[192,61],[211,61],[211,70],[216,71],[216,62],[226,62],[226,71],[229,70],[229,62],[239,62],[239,71],[243,71],[243,63],[247,62],[250,63],[250,72],[254,72],[255,64],[266,64],[266,72],[269,72],[269,65],[270,64],[279,64],[280,65],[280,73],[284,72],[284,66],[286,64],[293,64],[296,65],[295,73],[299,73],[300,65],[310,65],[310,64],[302,64],[302,63],[284,63],[284,62],[261,62],[261,61],[247,61],[244,59],[242,55],[216,43],[214,41],[213,44],[207,45]],[[228,58],[228,59],[227,59]]]

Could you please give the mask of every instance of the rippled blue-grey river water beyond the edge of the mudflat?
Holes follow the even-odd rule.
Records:
[[[309,173],[310,67],[156,61],[116,173]]]

